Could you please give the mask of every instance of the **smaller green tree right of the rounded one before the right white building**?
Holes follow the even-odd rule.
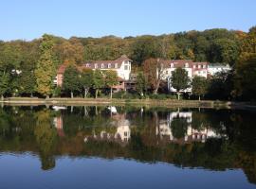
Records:
[[[206,77],[193,77],[192,78],[192,94],[197,95],[198,99],[208,92],[208,79]]]

